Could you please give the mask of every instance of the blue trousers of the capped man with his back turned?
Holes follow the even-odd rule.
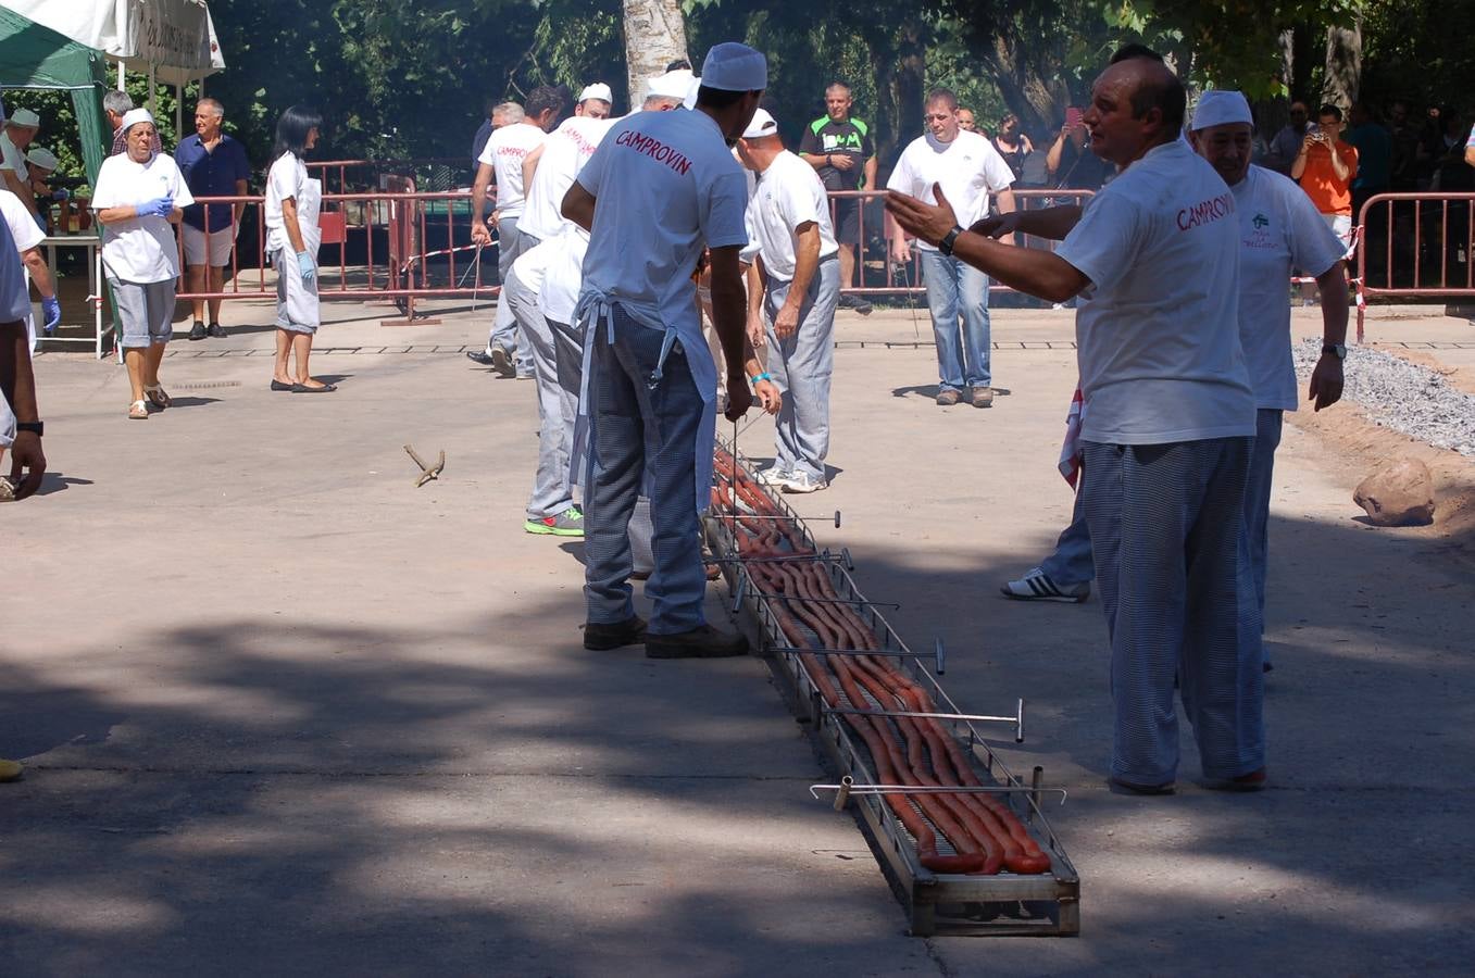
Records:
[[[646,581],[652,634],[702,625],[707,572],[696,516],[696,429],[702,395],[686,351],[677,342],[655,388],[648,381],[661,358],[661,330],[642,326],[617,302],[615,341],[594,323],[589,376],[591,475],[584,488],[584,599],[589,621],[611,624],[634,614],[630,574],[630,519],[646,463],[650,466],[650,549],[655,569]],[[707,348],[695,351],[705,357]]]

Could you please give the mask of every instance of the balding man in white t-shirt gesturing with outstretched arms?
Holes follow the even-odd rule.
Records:
[[[1264,676],[1243,521],[1255,395],[1239,339],[1236,199],[1180,137],[1186,96],[1161,58],[1133,47],[1112,60],[1084,121],[1092,149],[1121,176],[1078,212],[1059,251],[965,232],[941,201],[889,195],[886,207],[1012,288],[1084,299],[1081,504],[1112,648],[1111,783],[1174,789],[1179,679],[1204,776],[1257,789]],[[1061,220],[1043,214],[1009,230]]]

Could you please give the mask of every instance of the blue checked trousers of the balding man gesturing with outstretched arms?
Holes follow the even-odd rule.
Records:
[[[1266,763],[1260,609],[1243,533],[1252,438],[1087,441],[1083,482],[1111,636],[1112,774],[1171,782],[1173,680],[1205,777]]]

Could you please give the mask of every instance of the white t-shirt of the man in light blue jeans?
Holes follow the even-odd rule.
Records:
[[[943,184],[943,193],[953,205],[957,223],[968,227],[987,217],[988,195],[1007,190],[1013,183],[1013,170],[993,143],[978,133],[959,130],[957,139],[950,143],[940,143],[928,133],[912,140],[901,152],[891,178],[886,180],[886,189],[937,204],[937,198],[932,196],[934,183]],[[917,242],[917,248],[937,251],[922,240]]]

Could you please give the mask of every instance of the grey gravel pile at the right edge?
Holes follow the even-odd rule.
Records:
[[[1304,398],[1311,367],[1322,357],[1322,341],[1295,344],[1292,353]],[[1475,456],[1475,397],[1450,386],[1434,370],[1372,347],[1348,347],[1342,375],[1342,397],[1357,401],[1370,420],[1437,448]]]

